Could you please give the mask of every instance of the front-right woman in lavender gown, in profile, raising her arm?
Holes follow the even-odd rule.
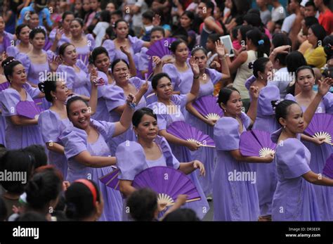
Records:
[[[299,77],[301,73],[298,74],[298,79]],[[301,143],[299,134],[311,122],[315,110],[332,84],[330,78],[324,82],[318,81],[318,94],[315,94],[305,113],[300,105],[291,100],[274,105],[276,120],[282,128],[271,136],[272,141],[278,144],[275,150],[278,186],[273,196],[273,221],[321,220],[313,184],[333,186],[333,180],[311,170],[311,153]],[[329,202],[326,204],[329,205]]]

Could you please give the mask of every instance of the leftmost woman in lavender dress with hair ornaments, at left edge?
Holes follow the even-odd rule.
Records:
[[[44,97],[38,88],[27,83],[27,74],[20,61],[13,57],[6,58],[2,63],[6,79],[10,86],[0,92],[2,115],[6,117],[6,146],[8,149],[25,148],[32,144],[44,145],[37,118],[30,119],[18,113],[17,106],[25,102],[36,106],[33,98]],[[22,103],[20,103],[22,104]]]

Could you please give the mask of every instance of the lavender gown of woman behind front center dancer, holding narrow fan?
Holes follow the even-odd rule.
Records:
[[[164,105],[164,103],[155,102],[148,105],[148,108],[151,108],[154,111],[154,113],[157,115],[157,124],[159,130],[166,129],[167,127],[169,127],[169,125],[172,122],[185,121],[185,118],[183,116],[183,113],[181,113],[181,110],[185,109],[187,96],[174,95],[171,97],[171,101],[176,105],[177,108],[177,112],[175,111],[176,113],[174,114],[168,113],[168,109],[166,108],[166,105]],[[195,158],[192,158],[190,150],[188,150],[188,148],[185,148],[184,146],[178,146],[173,143],[170,143],[170,147],[172,153],[175,155],[175,157],[179,162],[190,162],[192,160],[195,160]],[[197,173],[192,172],[188,176],[192,180],[193,184],[195,184],[195,186],[197,187],[197,190],[200,193],[201,200],[193,203],[186,203],[185,206],[194,210],[197,213],[197,216],[200,217],[200,219],[203,219],[204,215],[207,214],[207,212],[209,211],[209,204],[207,202],[206,196],[204,195],[204,191],[202,190],[202,187],[200,185]]]

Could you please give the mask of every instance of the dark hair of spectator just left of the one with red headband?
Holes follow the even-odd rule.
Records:
[[[58,198],[63,181],[55,171],[46,170],[34,174],[25,188],[27,203],[33,210],[43,210],[51,200]]]

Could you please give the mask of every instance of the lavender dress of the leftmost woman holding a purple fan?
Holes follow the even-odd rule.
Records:
[[[26,101],[33,101],[32,98],[40,94],[38,88],[33,88],[30,84],[23,85],[27,93]],[[19,149],[25,148],[32,144],[40,144],[44,146],[41,139],[41,131],[38,125],[15,125],[11,122],[11,116],[18,115],[16,105],[21,101],[18,91],[12,88],[7,88],[0,92],[0,102],[2,115],[6,117],[6,148]]]

